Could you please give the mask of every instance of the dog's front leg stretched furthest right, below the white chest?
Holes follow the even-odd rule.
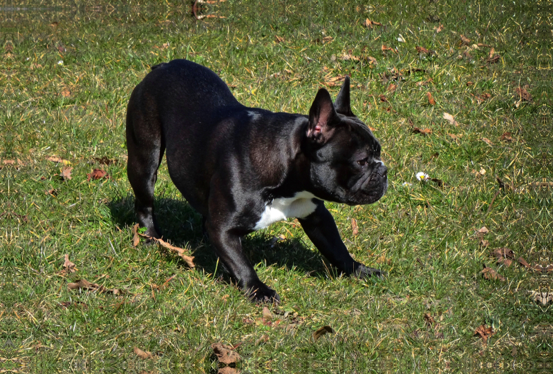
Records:
[[[380,270],[364,266],[351,257],[348,248],[341,240],[336,222],[325,208],[324,202],[318,199],[314,200],[317,204],[315,212],[298,220],[319,252],[330,261],[330,264],[347,275],[355,275],[359,278],[382,275]]]

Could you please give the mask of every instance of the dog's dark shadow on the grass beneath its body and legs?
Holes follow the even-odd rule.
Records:
[[[134,197],[128,195],[108,203],[111,218],[119,227],[132,227],[136,222]],[[207,273],[221,270],[209,239],[203,235],[202,216],[184,199],[156,199],[156,217],[164,240],[191,250],[194,263]],[[318,251],[312,251],[301,239],[284,239],[258,231],[242,238],[243,252],[252,264],[265,262],[279,268],[295,268],[314,277],[325,277],[328,270]],[[186,266],[182,262],[182,266]],[[217,275],[221,272],[217,270]],[[230,282],[228,275],[223,280]]]

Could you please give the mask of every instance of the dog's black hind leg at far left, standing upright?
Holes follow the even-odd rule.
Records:
[[[140,90],[140,88],[138,88]],[[126,112],[126,148],[129,152],[126,173],[134,190],[135,213],[146,235],[160,238],[161,233],[153,213],[153,190],[158,168],[165,152],[159,119],[145,109],[140,91],[135,89]],[[137,92],[138,91],[138,92]]]

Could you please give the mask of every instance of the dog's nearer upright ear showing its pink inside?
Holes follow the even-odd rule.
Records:
[[[309,126],[307,137],[311,141],[324,144],[334,130],[332,124],[337,121],[338,115],[332,104],[332,98],[327,90],[321,88],[315,96],[313,104],[309,110]]]

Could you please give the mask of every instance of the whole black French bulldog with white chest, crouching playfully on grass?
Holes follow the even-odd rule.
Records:
[[[254,301],[279,295],[257,277],[241,237],[287,217],[341,273],[381,275],[350,256],[323,202],[371,204],[388,187],[380,144],[351,111],[349,77],[334,104],[321,88],[306,116],[243,106],[212,70],[191,61],[151,70],[126,113],[127,173],[147,235],[160,237],[153,186],[167,150],[171,179]]]

